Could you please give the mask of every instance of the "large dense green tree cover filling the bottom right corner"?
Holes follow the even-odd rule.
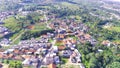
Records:
[[[82,54],[82,62],[87,68],[119,68],[120,64],[120,47],[111,45],[92,46],[90,43],[78,45],[78,49]],[[98,51],[101,49],[102,51]]]

